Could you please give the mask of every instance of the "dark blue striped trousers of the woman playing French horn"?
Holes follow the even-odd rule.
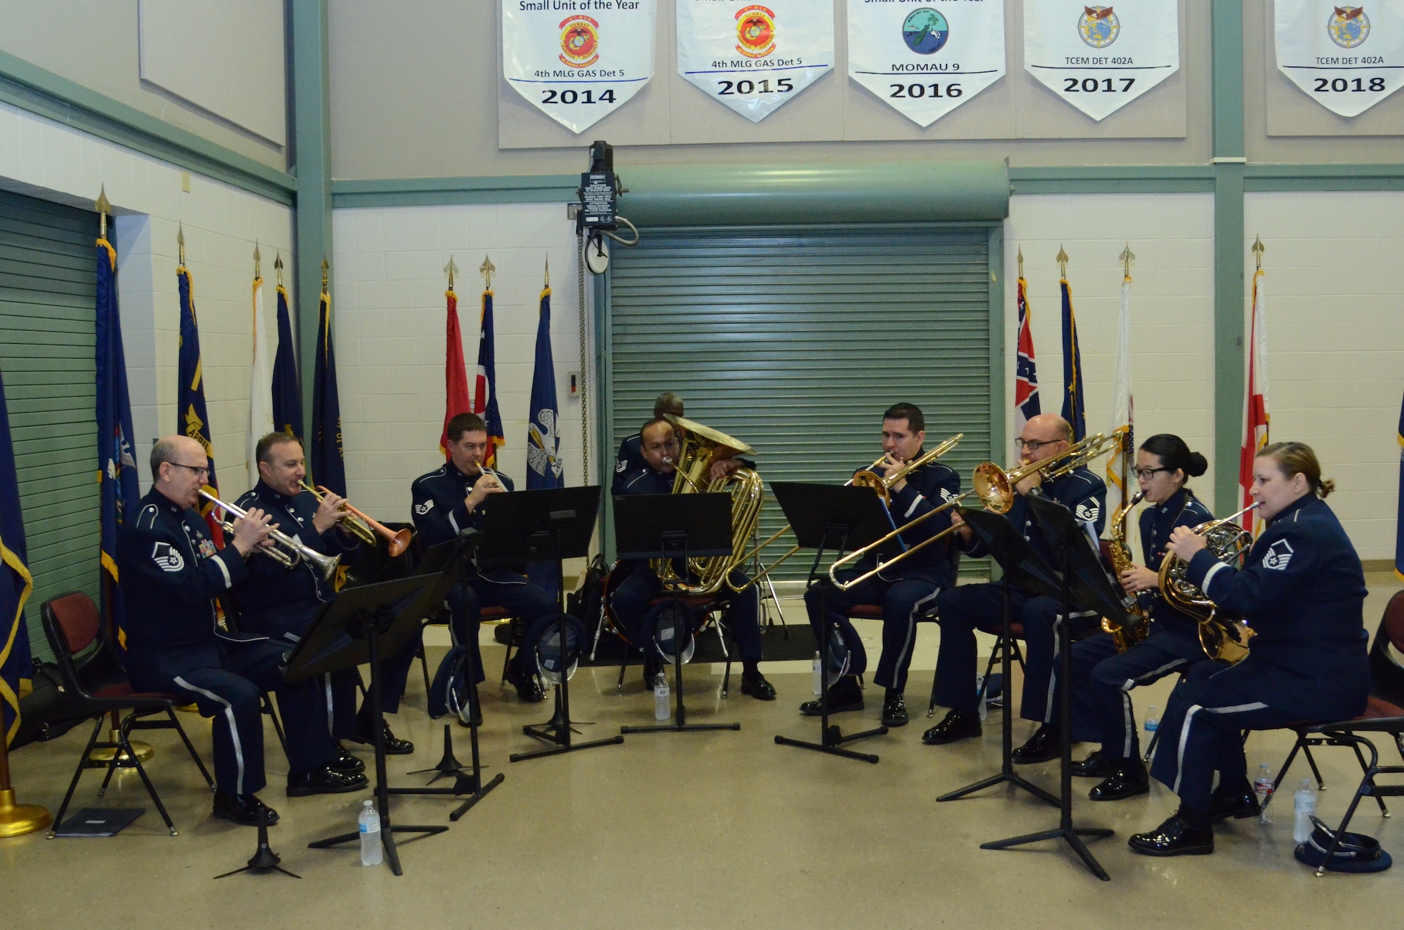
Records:
[[[1214,663],[1195,666],[1160,718],[1150,774],[1191,808],[1209,811],[1214,771],[1223,785],[1247,784],[1243,731],[1276,729],[1302,719],[1302,714],[1271,707],[1255,690],[1243,687],[1245,673],[1254,673],[1250,662],[1217,672]]]

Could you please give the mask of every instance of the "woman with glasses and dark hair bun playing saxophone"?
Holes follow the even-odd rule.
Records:
[[[1203,455],[1168,433],[1150,437],[1136,454],[1133,473],[1148,504],[1140,514],[1143,565],[1122,572],[1120,583],[1153,621],[1150,636],[1120,655],[1109,634],[1073,645],[1073,738],[1102,745],[1073,764],[1074,775],[1102,780],[1088,794],[1092,801],[1119,801],[1150,791],[1132,688],[1209,662],[1199,645],[1198,620],[1171,605],[1158,589],[1171,531],[1213,520],[1186,485],[1207,469]]]

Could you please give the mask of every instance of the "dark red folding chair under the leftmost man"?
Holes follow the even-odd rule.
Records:
[[[170,830],[171,836],[177,836],[176,825],[171,823],[171,818],[166,812],[160,795],[156,794],[156,787],[152,785],[146,768],[132,750],[129,733],[133,728],[174,729],[180,733],[181,742],[185,743],[190,757],[199,767],[205,782],[213,790],[215,780],[209,777],[209,770],[205,768],[205,763],[201,761],[199,753],[195,752],[190,738],[185,735],[185,729],[176,716],[176,707],[184,704],[185,698],[167,693],[138,693],[132,688],[126,673],[122,672],[112,652],[111,643],[105,636],[100,635],[102,621],[97,605],[83,591],[70,591],[51,598],[44,603],[39,613],[44,620],[44,635],[49,641],[49,648],[53,649],[53,660],[63,679],[63,687],[72,690],[73,694],[84,701],[88,712],[97,718],[93,735],[88,736],[87,745],[79,756],[79,766],[73,773],[73,780],[69,782],[69,791],[63,795],[63,804],[53,818],[55,829],[63,823],[63,813],[69,809],[73,792],[79,787],[79,778],[83,777],[86,768],[107,768],[102,787],[98,790],[98,795],[102,795],[112,781],[112,774],[124,764],[124,760],[131,760],[131,764],[136,768],[136,774],[142,777],[142,784],[146,785],[146,792],[152,795],[156,809],[166,822],[166,829]],[[93,648],[94,643],[95,648],[91,653],[80,659],[80,653]],[[102,725],[107,722],[107,715],[114,711],[118,714],[126,711],[126,715],[121,718],[121,723],[115,731],[115,739],[100,740],[98,736],[102,732]],[[139,718],[153,714],[164,714],[168,719],[139,722]],[[95,763],[90,759],[94,749],[112,749],[115,752],[110,761]],[[53,839],[53,834],[55,830],[51,829],[49,839]]]

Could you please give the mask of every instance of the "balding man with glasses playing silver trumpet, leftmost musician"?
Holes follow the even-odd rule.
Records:
[[[126,667],[138,691],[185,695],[213,718],[213,816],[244,825],[278,819],[256,797],[265,785],[263,691],[277,690],[288,728],[289,797],[365,788],[365,775],[330,767],[337,752],[322,688],[284,681],[286,645],[218,627],[213,598],[249,577],[246,556],[271,544],[270,516],[249,510],[216,549],[194,510],[209,473],[205,448],[171,435],[152,448],[150,465],[152,490],[117,549]]]

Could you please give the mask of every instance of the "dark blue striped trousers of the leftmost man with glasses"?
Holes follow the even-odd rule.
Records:
[[[317,679],[284,681],[286,648],[278,642],[220,642],[215,649],[128,653],[132,687],[170,691],[195,701],[213,718],[215,784],[226,794],[254,794],[264,778],[260,695],[277,691],[288,736],[289,774],[331,761],[327,705]]]

